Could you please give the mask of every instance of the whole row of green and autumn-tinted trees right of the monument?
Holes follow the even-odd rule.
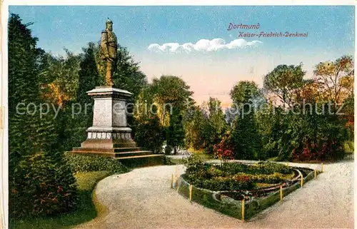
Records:
[[[180,78],[161,76],[139,94],[136,141],[160,152],[193,148],[218,158],[278,161],[336,160],[353,140],[353,58],[318,63],[306,79],[302,64],[279,65],[263,76],[263,88],[240,81],[231,89],[233,105],[223,112],[217,98],[197,105]],[[169,112],[165,104],[173,104]],[[166,109],[165,109],[166,108]],[[169,153],[171,148],[169,148]]]

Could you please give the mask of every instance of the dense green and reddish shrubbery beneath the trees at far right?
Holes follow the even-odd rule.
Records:
[[[327,111],[326,104],[316,103]],[[298,111],[298,108],[296,108]],[[336,112],[336,110],[335,110]],[[333,112],[332,112],[333,113]],[[298,111],[283,115],[281,132],[271,139],[279,160],[326,160],[344,156],[343,143],[348,139],[344,121],[328,112]]]

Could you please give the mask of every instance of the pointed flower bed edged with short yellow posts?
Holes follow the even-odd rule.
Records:
[[[192,185],[194,202],[238,219],[242,218],[243,198],[248,219],[280,200],[281,185],[285,196],[301,187],[301,175],[304,183],[314,175],[309,168],[279,163],[213,165],[188,158],[185,164],[187,169],[179,179],[178,193],[189,198]]]

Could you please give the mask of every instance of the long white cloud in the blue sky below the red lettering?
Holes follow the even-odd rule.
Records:
[[[159,44],[151,44],[148,49],[150,51],[161,52],[161,51],[169,51],[176,53],[178,51],[219,51],[222,49],[242,49],[248,46],[256,46],[261,44],[261,41],[246,41],[244,39],[236,39],[228,44],[223,39],[201,39],[196,42],[196,44],[192,44],[191,42],[185,44],[178,43],[166,43],[163,45]]]

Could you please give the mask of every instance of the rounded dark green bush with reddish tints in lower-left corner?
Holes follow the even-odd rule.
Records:
[[[9,179],[9,218],[54,215],[76,205],[76,180],[64,163],[44,153],[24,157]]]

